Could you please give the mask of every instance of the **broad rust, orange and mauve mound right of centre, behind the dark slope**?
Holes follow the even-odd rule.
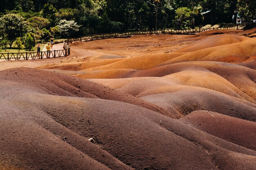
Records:
[[[195,110],[210,110],[256,120],[253,69],[221,62],[182,62],[130,76],[133,78],[91,80],[141,97],[176,113],[176,117]]]

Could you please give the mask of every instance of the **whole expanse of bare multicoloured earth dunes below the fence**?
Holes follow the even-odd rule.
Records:
[[[254,34],[75,42],[67,58],[0,62],[0,169],[254,170]]]

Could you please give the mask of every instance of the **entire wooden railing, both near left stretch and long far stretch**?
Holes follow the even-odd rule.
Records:
[[[163,29],[163,30],[144,30],[144,31],[129,31],[129,32],[121,32],[121,33],[103,33],[103,34],[93,34],[86,35],[77,38],[70,38],[63,42],[63,50],[54,50],[54,51],[41,51],[37,52],[26,52],[26,53],[0,53],[0,59],[9,60],[35,60],[35,59],[46,59],[46,58],[56,58],[56,57],[66,57],[70,55],[70,46],[73,42],[83,42],[83,41],[92,41],[106,38],[123,38],[130,37],[131,35],[147,35],[147,34],[197,34],[202,33],[204,31],[211,31],[216,29],[243,29],[246,26],[244,24],[236,24],[234,26],[224,26],[219,28],[206,28],[206,29]]]

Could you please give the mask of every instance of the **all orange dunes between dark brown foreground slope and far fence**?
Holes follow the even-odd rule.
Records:
[[[211,110],[255,121],[256,40],[231,34],[212,35],[213,33],[209,31],[179,37],[179,40],[171,35],[138,36],[137,42],[133,44],[130,39],[135,40],[136,36],[125,39],[127,41],[117,39],[99,40],[97,43],[79,42],[74,47],[110,54],[106,57],[102,57],[102,54],[73,57],[68,61],[40,68],[76,70],[76,77],[90,78],[91,81],[141,97],[173,113],[174,117],[182,117],[194,110]],[[145,42],[145,38],[148,38],[148,42]],[[153,41],[153,38],[157,40]],[[150,44],[149,41],[153,42]],[[109,44],[113,44],[112,49]],[[169,47],[169,51],[166,47]],[[138,54],[132,53],[129,48],[136,49]],[[122,54],[126,55],[118,57],[121,49]],[[141,55],[141,51],[148,53]],[[133,55],[130,56],[130,53]],[[177,102],[176,95],[183,96],[177,97],[180,101],[184,99],[193,102],[181,107],[184,104]],[[231,110],[233,105],[241,107]],[[248,117],[243,117],[243,112],[248,109]]]

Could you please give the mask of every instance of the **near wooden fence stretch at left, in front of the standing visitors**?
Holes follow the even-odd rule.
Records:
[[[70,46],[63,42],[63,50],[26,52],[26,53],[0,53],[0,59],[10,60],[36,60],[56,57],[66,57],[70,55]]]

